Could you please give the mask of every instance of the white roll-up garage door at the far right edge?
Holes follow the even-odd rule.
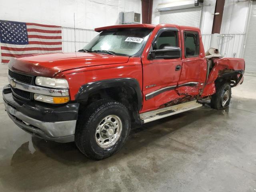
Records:
[[[252,2],[247,39],[244,49],[245,71],[256,74],[256,1]]]

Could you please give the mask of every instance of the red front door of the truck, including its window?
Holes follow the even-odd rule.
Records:
[[[150,50],[163,49],[165,46],[181,48],[180,33],[177,28],[161,28],[152,41]],[[175,88],[182,68],[181,58],[152,59],[142,58],[143,65],[143,107],[141,112],[157,109],[163,104],[179,98]]]

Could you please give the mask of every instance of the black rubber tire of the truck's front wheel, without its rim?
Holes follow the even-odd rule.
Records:
[[[116,115],[122,122],[122,131],[118,140],[108,148],[100,147],[95,138],[96,129],[102,119]],[[118,152],[124,146],[131,129],[128,109],[114,100],[98,100],[90,104],[79,116],[75,133],[75,142],[79,150],[92,160],[102,160]]]

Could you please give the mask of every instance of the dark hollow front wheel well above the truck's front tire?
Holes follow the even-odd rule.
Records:
[[[80,101],[79,113],[80,111],[84,111],[85,108],[92,102],[101,99],[116,100],[124,104],[124,106],[126,106],[130,112],[132,124],[141,124],[138,113],[138,97],[134,88],[130,86],[115,86],[92,92],[89,94],[87,101]]]

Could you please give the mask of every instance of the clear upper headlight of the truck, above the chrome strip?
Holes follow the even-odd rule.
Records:
[[[37,76],[36,85],[58,89],[68,89],[68,81],[66,79],[56,79]]]

